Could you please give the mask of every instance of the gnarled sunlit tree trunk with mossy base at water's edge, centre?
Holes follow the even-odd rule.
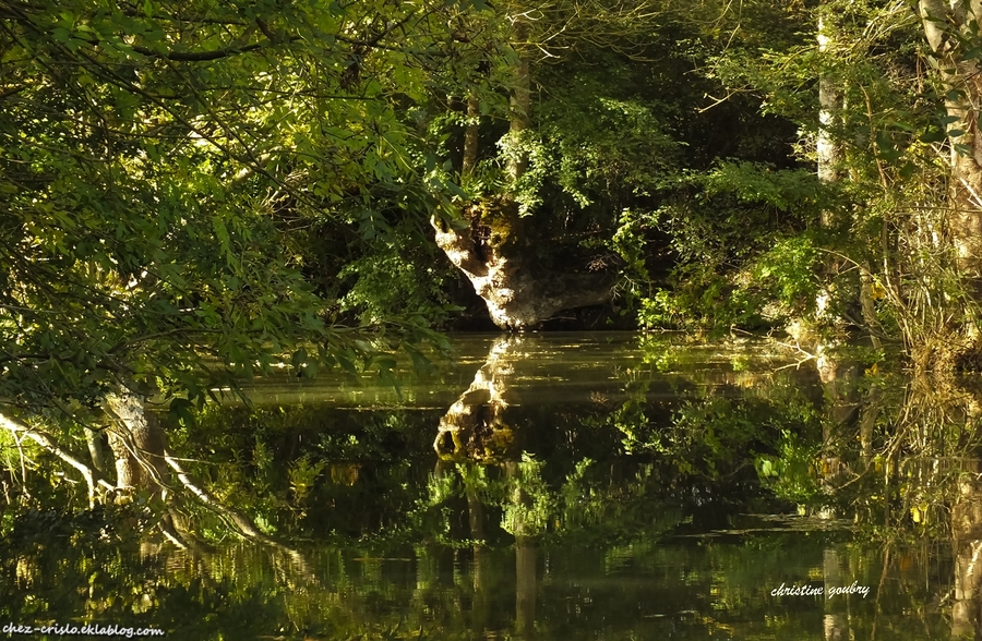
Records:
[[[517,17],[513,31],[519,53],[526,46],[529,25]],[[519,55],[514,69],[510,132],[513,141],[531,123],[531,73],[528,57]],[[468,99],[468,122],[479,113],[476,99]],[[463,176],[474,171],[478,158],[478,129],[468,124],[464,137]],[[436,244],[451,263],[470,280],[484,300],[491,320],[502,329],[526,329],[548,320],[563,310],[598,305],[610,300],[613,281],[599,274],[556,274],[540,268],[535,247],[523,232],[524,221],[515,196],[515,185],[528,167],[524,152],[508,157],[511,190],[498,198],[472,203],[465,208],[467,225],[455,227],[434,217]]]

